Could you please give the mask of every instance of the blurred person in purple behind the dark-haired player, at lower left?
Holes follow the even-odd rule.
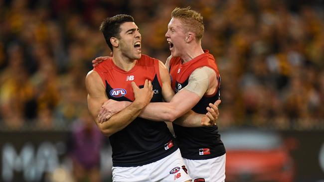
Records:
[[[76,182],[100,182],[100,149],[104,136],[86,109],[73,123],[70,142],[68,153]]]

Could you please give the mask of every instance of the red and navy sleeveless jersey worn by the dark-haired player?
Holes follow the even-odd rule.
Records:
[[[159,60],[143,55],[128,72],[118,68],[110,58],[94,70],[106,86],[109,99],[134,101],[131,83],[143,88],[146,79],[152,81],[154,96],[151,102],[162,102],[162,82]],[[109,122],[109,121],[108,121]],[[158,161],[178,147],[164,122],[137,117],[127,127],[109,137],[113,150],[113,166],[134,167]]]

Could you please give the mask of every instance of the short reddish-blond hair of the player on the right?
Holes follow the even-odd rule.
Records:
[[[191,7],[176,7],[172,13],[172,18],[178,18],[184,24],[185,31],[192,31],[196,34],[196,39],[201,40],[204,33],[204,24],[202,22],[203,17],[197,11],[191,10]]]

